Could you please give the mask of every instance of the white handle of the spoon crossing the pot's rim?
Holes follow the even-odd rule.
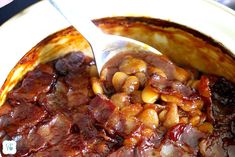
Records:
[[[56,8],[64,18],[71,23],[77,31],[94,47],[99,47],[100,41],[104,38],[103,32],[87,17],[81,3],[77,0],[49,0],[49,2]],[[78,5],[75,5],[78,4]]]

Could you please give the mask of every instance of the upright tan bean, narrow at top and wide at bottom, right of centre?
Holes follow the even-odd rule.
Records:
[[[177,105],[175,103],[168,103],[167,105],[169,109],[163,125],[167,128],[170,128],[179,123],[179,114]]]

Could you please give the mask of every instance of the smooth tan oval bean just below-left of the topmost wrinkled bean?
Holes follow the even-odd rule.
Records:
[[[128,75],[123,72],[116,72],[112,78],[112,84],[116,91],[120,91]]]

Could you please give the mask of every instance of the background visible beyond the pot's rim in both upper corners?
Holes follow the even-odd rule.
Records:
[[[0,8],[0,25],[6,20],[23,10],[24,8],[38,2],[40,0],[14,0],[10,4]],[[235,10],[235,0],[216,0]]]

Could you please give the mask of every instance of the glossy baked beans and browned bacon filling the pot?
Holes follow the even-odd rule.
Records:
[[[126,52],[99,77],[71,52],[8,93],[0,141],[15,156],[234,156],[234,108],[233,83],[165,56]]]

